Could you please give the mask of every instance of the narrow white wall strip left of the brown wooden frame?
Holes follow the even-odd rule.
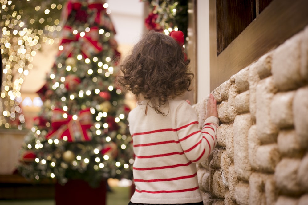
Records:
[[[210,93],[209,0],[197,0],[197,101]]]

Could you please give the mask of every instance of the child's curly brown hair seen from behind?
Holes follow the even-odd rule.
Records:
[[[157,113],[164,114],[160,106],[168,103],[168,98],[191,90],[193,73],[188,69],[189,62],[176,40],[149,31],[120,65],[123,75],[117,81],[138,101],[144,98]]]

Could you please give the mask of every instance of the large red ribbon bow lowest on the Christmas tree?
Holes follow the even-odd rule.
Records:
[[[67,114],[68,117],[64,118],[63,114]],[[68,142],[91,140],[91,137],[87,134],[87,129],[92,126],[90,109],[81,110],[77,116],[78,119],[73,120],[67,112],[56,108],[51,116],[52,130],[47,133],[46,139],[62,139],[67,136]]]

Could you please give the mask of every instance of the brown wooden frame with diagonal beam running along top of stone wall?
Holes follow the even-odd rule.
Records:
[[[217,56],[216,0],[210,0],[210,89],[276,48],[308,24],[308,1],[273,0],[247,28]]]

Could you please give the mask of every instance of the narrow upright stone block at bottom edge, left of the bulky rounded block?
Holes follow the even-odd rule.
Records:
[[[277,200],[278,191],[276,188],[276,181],[274,179],[274,175],[266,175],[265,176],[265,198],[266,204],[274,204]]]

